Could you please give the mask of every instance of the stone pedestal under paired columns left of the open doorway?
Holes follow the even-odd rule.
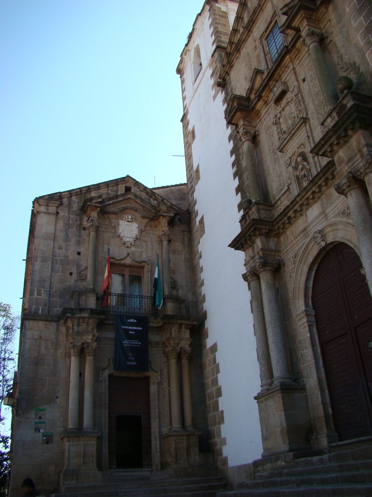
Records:
[[[62,436],[64,448],[64,469],[61,474],[61,488],[66,485],[101,482],[102,472],[97,469],[97,439],[99,433],[85,434],[81,431]]]

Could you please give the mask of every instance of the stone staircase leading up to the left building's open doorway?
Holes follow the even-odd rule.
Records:
[[[50,497],[216,497],[216,492],[228,488],[215,471],[193,473],[194,476],[174,477],[167,472],[112,471],[104,474],[99,484],[70,485],[63,493]]]

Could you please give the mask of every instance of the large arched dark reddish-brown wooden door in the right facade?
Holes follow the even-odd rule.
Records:
[[[340,243],[316,269],[312,305],[340,440],[372,434],[372,299],[355,250]]]

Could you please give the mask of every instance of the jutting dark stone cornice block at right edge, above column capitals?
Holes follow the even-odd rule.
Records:
[[[310,150],[311,154],[333,159],[350,138],[372,127],[372,97],[348,91],[322,123],[329,129]]]

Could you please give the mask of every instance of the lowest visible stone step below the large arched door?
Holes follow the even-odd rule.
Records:
[[[216,497],[371,497],[372,484],[280,487],[218,492]]]

